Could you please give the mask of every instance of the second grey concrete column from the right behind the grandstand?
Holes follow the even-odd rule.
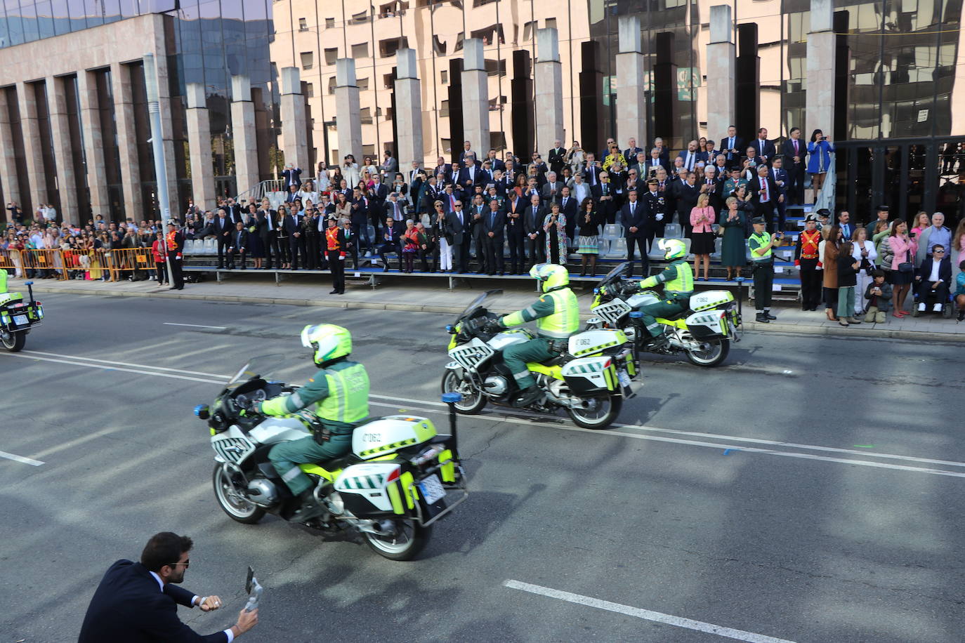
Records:
[[[736,50],[730,5],[710,8],[710,43],[707,44],[707,138],[720,141],[737,120]]]

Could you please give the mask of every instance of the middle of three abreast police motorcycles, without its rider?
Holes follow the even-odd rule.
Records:
[[[456,413],[478,414],[487,402],[520,408],[514,404],[519,388],[502,351],[535,335],[522,328],[494,327],[500,315],[489,307],[502,292],[486,291],[446,326],[452,362],[446,364],[442,391],[462,396],[455,403]],[[634,395],[630,383],[636,370],[625,343],[620,330],[579,333],[566,340],[559,357],[526,364],[544,395],[522,408],[547,415],[563,409],[578,426],[606,428],[617,420],[623,400]]]

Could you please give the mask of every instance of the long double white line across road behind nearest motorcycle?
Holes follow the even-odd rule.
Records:
[[[172,379],[177,379],[177,380],[187,380],[187,381],[190,381],[190,382],[204,382],[204,383],[207,383],[207,384],[223,384],[223,382],[219,382],[218,380],[228,380],[228,379],[231,378],[230,375],[218,375],[218,374],[215,374],[215,373],[202,373],[202,372],[199,372],[199,371],[181,370],[181,369],[179,369],[179,368],[163,368],[163,369],[162,369],[161,367],[147,366],[147,365],[145,365],[145,364],[131,364],[131,363],[128,363],[128,362],[108,362],[108,361],[105,361],[105,360],[96,360],[96,359],[94,359],[94,358],[80,358],[80,357],[70,357],[70,356],[59,356],[59,357],[68,357],[69,359],[68,359],[68,360],[56,360],[56,359],[52,359],[52,358],[33,357],[33,356],[35,356],[35,355],[56,355],[56,354],[53,354],[53,353],[41,353],[40,351],[23,351],[23,352],[21,352],[21,353],[0,353],[0,355],[8,355],[8,356],[11,356],[11,357],[25,358],[25,359],[28,359],[28,360],[30,360],[30,359],[32,359],[32,360],[41,360],[41,361],[43,361],[43,362],[65,363],[65,364],[69,364],[69,365],[71,365],[71,366],[87,366],[87,367],[91,367],[91,368],[101,368],[101,369],[104,369],[104,370],[117,370],[117,371],[123,371],[123,372],[127,372],[127,373],[138,373],[138,374],[141,374],[141,375],[152,375],[152,376],[154,376],[154,377],[167,377],[167,378],[172,378]],[[90,361],[90,362],[101,362],[101,363],[87,363],[87,362],[83,362],[83,361],[85,361],[85,360],[86,360],[86,361]],[[140,369],[139,369],[139,368],[115,368],[115,367],[112,367],[112,366],[107,366],[107,365],[102,365],[102,364],[124,364],[124,365],[129,365],[129,366],[140,366],[141,368],[140,368]],[[154,370],[143,370],[143,368],[152,368],[152,369],[154,369]],[[155,370],[165,370],[165,371],[173,371],[173,372],[158,373],[158,372],[154,372]],[[191,374],[196,374],[196,375],[207,375],[208,378],[218,378],[218,379],[205,379],[205,378],[199,378],[199,377],[190,377],[190,376],[186,376],[186,375],[179,375],[179,374],[177,374],[177,373],[191,373]],[[442,403],[442,402],[434,402],[434,401],[429,401],[429,400],[413,400],[413,399],[411,399],[411,398],[397,397],[397,396],[393,396],[393,395],[380,395],[380,394],[377,394],[377,393],[370,393],[370,397],[376,398],[376,399],[382,399],[382,400],[389,400],[390,402],[393,402],[393,403],[391,403],[391,404],[390,404],[390,403],[383,403],[383,402],[370,402],[370,404],[372,404],[372,405],[374,405],[374,406],[381,406],[381,407],[388,407],[388,408],[396,408],[396,409],[398,409],[398,408],[400,408],[400,404],[401,404],[401,405],[402,405],[402,408],[405,408],[405,409],[407,409],[407,410],[409,410],[409,411],[422,411],[422,412],[425,412],[425,413],[438,413],[438,412],[441,410],[440,408],[446,407],[446,404],[444,404],[444,403]],[[415,405],[424,405],[424,406],[427,405],[427,406],[436,407],[436,408],[435,408],[435,409],[426,409],[426,408],[424,408],[424,407],[412,406],[413,404],[415,404]],[[495,414],[476,415],[476,419],[486,420],[486,421],[490,421],[490,422],[510,422],[510,423],[513,423],[513,424],[522,424],[522,425],[536,426],[536,427],[542,427],[542,428],[553,428],[553,429],[560,429],[560,430],[563,430],[563,431],[578,431],[578,432],[581,432],[581,433],[591,433],[591,434],[593,434],[593,435],[598,435],[598,436],[617,436],[617,437],[620,437],[620,438],[632,438],[632,439],[634,439],[634,440],[647,440],[647,441],[650,441],[650,442],[670,442],[670,443],[674,443],[674,444],[686,444],[686,445],[690,445],[690,446],[703,446],[703,447],[706,447],[706,448],[721,449],[721,450],[724,450],[724,449],[732,449],[732,450],[740,451],[740,452],[742,452],[742,453],[759,453],[759,454],[762,454],[762,455],[776,455],[776,456],[783,456],[783,457],[785,457],[785,458],[798,458],[798,459],[801,459],[801,460],[820,460],[820,461],[823,461],[823,462],[835,462],[835,463],[839,463],[839,464],[843,464],[843,465],[857,465],[857,466],[859,466],[859,467],[871,467],[871,468],[875,468],[875,469],[893,469],[893,470],[901,470],[901,471],[914,471],[914,472],[918,472],[918,473],[928,473],[928,474],[931,474],[931,475],[945,475],[945,476],[951,476],[951,477],[965,478],[965,472],[960,472],[960,471],[949,471],[949,470],[945,470],[945,469],[930,469],[930,468],[924,468],[924,467],[910,467],[910,466],[906,466],[906,465],[894,465],[894,464],[890,464],[890,463],[873,462],[873,461],[869,461],[869,460],[854,460],[854,459],[850,459],[850,458],[837,458],[837,457],[831,457],[831,456],[816,455],[816,454],[813,454],[813,453],[797,453],[797,452],[794,452],[794,451],[779,451],[779,450],[775,450],[775,449],[760,448],[760,447],[756,447],[756,446],[744,446],[744,445],[738,446],[738,445],[735,445],[735,444],[721,443],[721,442],[705,442],[705,441],[703,441],[703,440],[688,440],[688,439],[685,439],[685,438],[670,438],[670,437],[654,436],[654,435],[642,435],[642,434],[640,434],[640,433],[628,433],[628,432],[625,432],[625,431],[617,431],[617,430],[614,430],[613,428],[612,428],[612,429],[603,430],[603,431],[599,431],[599,430],[593,430],[593,429],[584,429],[584,428],[581,428],[581,427],[578,427],[578,426],[569,426],[569,425],[567,425],[567,424],[565,424],[565,423],[562,423],[562,422],[561,422],[561,423],[547,423],[547,422],[545,422],[545,421],[541,421],[541,422],[540,422],[540,421],[528,420],[528,419],[523,418],[523,417],[513,417],[513,416],[507,416],[507,415],[495,415]],[[897,454],[893,454],[893,453],[869,453],[869,452],[867,452],[867,451],[859,451],[859,450],[856,450],[856,449],[843,449],[843,448],[838,448],[838,447],[834,447],[834,446],[819,446],[819,445],[816,445],[816,444],[798,444],[798,443],[795,443],[795,442],[778,442],[778,441],[763,440],[763,439],[758,439],[758,438],[741,438],[741,437],[737,437],[737,436],[726,436],[726,435],[719,435],[719,434],[713,434],[713,433],[700,433],[700,432],[695,432],[695,431],[679,431],[679,430],[676,430],[676,429],[663,429],[663,428],[656,427],[656,426],[647,426],[647,425],[641,425],[641,424],[614,424],[613,427],[616,428],[616,429],[623,428],[623,429],[634,429],[634,430],[636,430],[636,431],[647,431],[648,433],[669,433],[669,434],[673,434],[673,435],[676,435],[676,436],[683,436],[683,437],[687,437],[687,438],[691,438],[691,437],[692,437],[692,438],[705,438],[705,439],[710,439],[710,440],[725,440],[725,441],[745,442],[745,443],[746,443],[746,442],[753,442],[753,443],[758,443],[758,444],[767,444],[767,445],[771,445],[771,446],[781,446],[781,447],[786,447],[786,448],[798,448],[798,449],[806,449],[806,450],[812,450],[812,451],[825,451],[825,452],[835,452],[835,453],[842,453],[842,454],[855,454],[855,455],[861,455],[861,456],[866,457],[866,458],[879,458],[879,459],[902,460],[902,461],[906,461],[906,462],[916,462],[916,463],[931,464],[931,465],[946,465],[946,466],[949,466],[949,467],[965,468],[965,463],[963,463],[963,462],[955,462],[955,461],[950,461],[950,460],[933,460],[933,459],[929,459],[929,458],[918,458],[918,457],[915,457],[915,456],[897,455]]]

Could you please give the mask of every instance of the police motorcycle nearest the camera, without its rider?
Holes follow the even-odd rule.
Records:
[[[270,367],[283,361],[266,356],[246,363],[213,404],[195,408],[211,432],[214,496],[237,522],[254,524],[265,513],[288,521],[301,504],[268,451],[278,442],[312,435],[309,427],[317,426],[317,417],[253,411],[259,402],[297,390],[271,379]],[[414,558],[426,547],[432,525],[469,496],[456,448],[455,397],[443,396],[450,405],[451,435],[437,434],[427,417],[372,417],[355,428],[345,456],[299,465],[315,484],[318,506],[326,509],[307,525],[326,533],[356,531],[386,558]]]

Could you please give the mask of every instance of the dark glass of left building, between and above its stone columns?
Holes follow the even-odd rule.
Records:
[[[260,157],[259,174],[266,179],[271,177],[272,168],[269,158],[277,148],[278,134],[278,90],[276,88],[273,67],[269,61],[269,44],[273,38],[273,22],[271,19],[272,0],[6,0],[0,3],[0,64],[5,57],[17,56],[18,46],[29,45],[37,40],[53,39],[56,37],[70,37],[77,32],[100,27],[112,29],[112,25],[130,18],[159,14],[163,16],[163,50],[157,55],[165,56],[168,69],[168,94],[171,96],[170,118],[172,125],[171,138],[174,139],[174,169],[176,176],[169,175],[169,181],[177,184],[178,202],[172,202],[175,212],[183,211],[191,199],[191,163],[188,154],[188,134],[185,118],[186,101],[185,86],[189,83],[204,85],[206,89],[207,114],[210,123],[211,158],[213,173],[216,178],[216,192],[219,195],[236,193],[234,182],[234,145],[231,117],[231,86],[233,75],[243,75],[251,79],[252,99],[256,108],[256,123],[258,141],[262,153]],[[89,32],[94,34],[95,32]],[[98,33],[98,38],[112,38],[110,32]],[[150,42],[145,42],[145,50],[149,53]],[[11,60],[8,58],[6,60]],[[106,63],[99,68],[78,69],[77,71],[93,71],[95,79],[96,103],[99,106],[100,129],[102,132],[104,179],[107,181],[108,203],[99,212],[105,217],[120,219],[124,217],[144,218],[157,213],[156,183],[153,168],[152,147],[147,141],[151,138],[150,121],[147,110],[147,94],[144,85],[144,69],[138,60],[103,61]],[[123,63],[121,67],[112,67],[114,63]],[[118,80],[112,77],[119,69],[123,70],[123,82],[130,83],[133,131],[136,135],[136,151],[133,156],[138,166],[138,185],[133,189],[139,191],[139,198],[132,200],[131,195],[124,194],[124,186],[120,179],[121,168],[130,156],[124,153],[118,145],[117,118],[115,110],[118,108],[118,97],[114,95],[118,87]],[[39,74],[43,75],[41,70]],[[49,73],[49,72],[48,72]],[[129,78],[127,75],[129,74]],[[63,79],[63,81],[61,81]],[[51,137],[48,125],[48,102],[52,99],[52,92],[63,91],[67,96],[67,112],[69,115],[71,134],[71,157],[77,171],[76,186],[80,195],[80,218],[87,219],[92,215],[90,186],[87,184],[89,172],[86,170],[88,159],[85,150],[90,149],[90,141],[85,142],[85,133],[80,120],[80,96],[76,76],[68,74],[57,76],[57,83],[63,82],[58,88],[46,83],[36,82],[38,121],[40,123],[41,150],[44,154],[45,174],[54,176],[55,165],[68,162],[68,159],[56,160],[47,152],[51,149]],[[44,87],[47,85],[47,87]],[[14,114],[17,105],[15,92],[31,89],[31,83],[8,87],[5,91],[11,93],[8,99],[10,107],[12,138],[14,154],[17,156],[16,181],[21,202],[32,208],[37,203],[30,202],[30,190],[26,184],[26,165],[19,158],[24,154],[20,115]],[[16,118],[14,118],[14,116]],[[47,123],[45,125],[44,123]],[[165,133],[165,138],[169,135]],[[18,144],[19,141],[19,144]],[[263,160],[261,160],[263,159]],[[169,163],[169,174],[172,159]],[[197,170],[197,169],[196,169]],[[48,186],[47,194],[61,211],[61,203],[56,185]],[[10,194],[7,186],[0,186],[5,194]],[[209,199],[214,195],[206,195]],[[8,199],[9,201],[9,199]],[[142,212],[129,212],[131,203],[142,204]],[[72,213],[65,213],[65,218],[76,221]]]

